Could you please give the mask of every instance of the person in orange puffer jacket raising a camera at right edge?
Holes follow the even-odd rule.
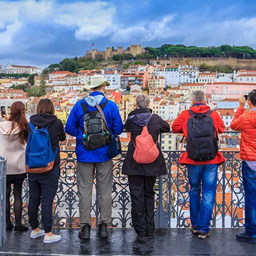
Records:
[[[241,131],[240,157],[244,187],[245,232],[236,235],[240,241],[256,243],[256,90],[248,94],[250,111],[245,111],[245,98],[239,100],[239,108],[230,125]]]

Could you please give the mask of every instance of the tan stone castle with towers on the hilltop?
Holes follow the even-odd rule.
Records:
[[[125,51],[123,46],[118,46],[118,49],[115,50],[111,47],[106,47],[106,51],[98,51],[98,49],[92,49],[92,52],[86,51],[86,57],[95,59],[95,56],[97,54],[101,54],[104,59],[111,59],[116,54],[132,54],[133,56],[136,56],[137,54],[141,54],[145,52],[145,49],[141,47],[141,45],[131,45],[129,46]]]

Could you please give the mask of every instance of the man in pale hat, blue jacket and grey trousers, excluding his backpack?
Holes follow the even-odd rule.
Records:
[[[104,92],[109,86],[108,81],[101,75],[94,75],[88,86],[91,90],[89,97],[78,101],[68,116],[65,131],[76,137],[77,157],[77,189],[79,195],[79,214],[81,239],[90,239],[91,205],[93,179],[97,178],[97,195],[99,202],[99,236],[108,237],[108,225],[111,225],[111,192],[113,186],[113,163],[108,156],[108,144],[97,149],[86,149],[84,136],[84,108],[89,112],[97,111],[96,105],[104,106],[103,113],[112,134],[121,134],[124,125],[115,102],[107,100]]]

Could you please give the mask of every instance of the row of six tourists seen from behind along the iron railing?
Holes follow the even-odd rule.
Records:
[[[140,237],[154,236],[155,213],[161,218],[163,200],[162,176],[167,174],[166,159],[157,143],[159,134],[170,132],[170,125],[160,116],[152,115],[148,108],[150,99],[145,94],[136,97],[136,109],[129,113],[123,125],[115,102],[106,99],[104,91],[109,83],[104,76],[92,77],[88,97],[77,102],[68,116],[65,131],[61,120],[54,115],[54,105],[49,99],[38,102],[36,115],[26,120],[25,106],[14,102],[10,115],[2,109],[0,123],[0,155],[7,159],[6,176],[6,230],[26,232],[22,225],[22,184],[28,175],[28,219],[32,228],[31,239],[44,236],[44,243],[60,241],[52,233],[52,204],[60,186],[60,141],[66,133],[76,137],[76,185],[79,196],[79,238],[90,239],[92,227],[93,181],[97,181],[97,211],[99,210],[99,237],[108,238],[108,227],[113,225],[111,216],[113,200],[123,201],[125,193],[112,198],[113,157],[120,155],[118,134],[125,129],[131,132],[131,141],[122,163],[122,174],[127,175],[131,195],[132,227]],[[218,133],[225,124],[216,111],[205,104],[205,94],[191,94],[192,106],[182,111],[172,124],[172,132],[184,134],[186,152],[179,155],[180,166],[188,168],[189,216],[191,231],[200,239],[210,236],[212,208],[216,199],[218,166],[225,166],[225,157],[218,149]],[[250,109],[245,111],[248,100]],[[243,160],[243,189],[245,232],[237,235],[240,241],[256,243],[256,90],[239,100],[231,128],[241,131]],[[177,154],[177,153],[176,153]],[[168,156],[172,161],[174,154]],[[115,167],[114,167],[115,168]],[[171,168],[171,166],[168,166]],[[28,173],[28,174],[27,174]],[[118,171],[118,175],[120,172]],[[223,173],[224,175],[224,173]],[[159,180],[157,179],[159,178]],[[179,182],[178,177],[178,182]],[[73,178],[70,176],[70,180]],[[168,177],[173,179],[173,177]],[[159,188],[159,207],[154,210],[156,182]],[[225,190],[225,182],[223,182]],[[15,227],[11,220],[10,195],[14,194]],[[127,185],[128,186],[128,185]],[[114,189],[115,190],[115,189]],[[66,200],[72,201],[72,193]],[[202,195],[201,195],[202,194]],[[169,195],[170,196],[170,195]],[[186,200],[186,198],[183,198]],[[38,220],[41,205],[42,226]],[[186,204],[184,204],[186,205]],[[163,205],[162,205],[163,206]],[[224,205],[225,208],[225,205]],[[124,208],[123,208],[124,209]],[[69,207],[70,210],[70,207]],[[72,203],[71,203],[72,210]],[[170,212],[170,211],[169,211]],[[61,221],[59,223],[61,225]],[[161,225],[159,225],[161,227]]]

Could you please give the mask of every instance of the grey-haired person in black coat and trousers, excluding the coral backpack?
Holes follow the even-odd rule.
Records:
[[[166,174],[166,163],[161,152],[161,145],[158,143],[157,148],[160,154],[153,163],[136,163],[133,159],[134,141],[145,125],[148,125],[148,132],[155,142],[161,132],[170,132],[170,125],[166,121],[156,114],[152,115],[152,109],[148,108],[149,102],[147,95],[138,95],[136,110],[129,114],[124,125],[125,130],[131,132],[131,141],[122,173],[128,175],[132,200],[132,225],[141,237],[154,235],[154,185],[158,175]]]

